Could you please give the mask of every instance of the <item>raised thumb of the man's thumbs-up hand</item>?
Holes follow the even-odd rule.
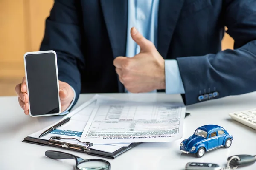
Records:
[[[140,51],[150,51],[152,48],[155,48],[154,44],[143,37],[135,27],[131,28],[131,37],[138,45],[140,45]]]

